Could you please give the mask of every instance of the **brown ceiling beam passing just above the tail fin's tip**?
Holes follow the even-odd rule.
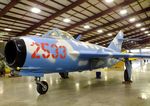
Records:
[[[109,30],[109,31],[106,31],[106,32],[104,32],[104,33],[102,33],[102,34],[96,34],[95,36],[91,36],[91,37],[85,38],[85,39],[83,39],[82,41],[89,41],[89,40],[95,39],[95,38],[97,38],[97,37],[102,37],[102,36],[106,35],[107,33],[119,31],[119,30],[125,29],[125,28],[127,28],[127,27],[131,27],[131,26],[133,26],[133,25],[136,24],[136,23],[144,22],[144,21],[147,21],[147,20],[150,20],[150,17],[141,19],[141,20],[139,20],[139,21],[135,21],[135,22],[133,22],[133,23],[130,23],[130,24],[127,24],[127,25],[118,27],[118,28],[114,28],[114,29]],[[92,41],[92,42],[93,42],[93,41]]]

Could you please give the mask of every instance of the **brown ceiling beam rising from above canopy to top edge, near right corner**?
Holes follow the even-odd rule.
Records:
[[[92,20],[94,20],[96,18],[99,18],[99,17],[101,17],[101,16],[103,16],[105,14],[109,14],[109,13],[111,13],[113,11],[116,11],[117,9],[120,9],[120,8],[122,8],[122,7],[126,6],[126,5],[129,5],[129,4],[131,4],[131,3],[135,2],[135,1],[136,0],[126,0],[125,2],[122,2],[122,3],[120,3],[120,4],[118,4],[118,5],[114,6],[114,7],[111,7],[111,8],[109,8],[107,10],[104,10],[104,11],[102,11],[102,12],[96,14],[96,15],[93,15],[93,16],[91,16],[89,18],[86,18],[86,19],[80,21],[80,22],[77,22],[77,23],[75,23],[73,25],[70,25],[69,27],[66,27],[64,30],[68,31],[68,30],[73,29],[73,28],[75,28],[77,26],[83,25],[83,24],[85,24],[85,23],[87,23],[89,21],[92,21]]]

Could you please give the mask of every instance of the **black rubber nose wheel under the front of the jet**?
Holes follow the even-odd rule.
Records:
[[[40,83],[37,83],[37,92],[39,94],[45,94],[48,91],[48,84],[46,81],[41,81]]]

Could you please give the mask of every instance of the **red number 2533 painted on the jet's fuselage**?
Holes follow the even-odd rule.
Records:
[[[65,59],[66,58],[66,47],[65,46],[57,46],[56,44],[48,44],[48,43],[37,43],[37,42],[32,42],[32,44],[30,46],[36,46],[35,51],[31,54],[31,58],[36,58],[36,59],[40,59],[40,55],[38,55],[39,50],[43,50],[44,53],[42,53],[42,57],[43,58],[53,58],[53,59],[57,59],[58,57],[60,57],[61,59]],[[51,54],[51,52],[46,49],[46,47],[51,47],[52,49],[54,49],[54,53]],[[59,52],[59,51],[62,52]],[[51,57],[50,57],[51,56]]]

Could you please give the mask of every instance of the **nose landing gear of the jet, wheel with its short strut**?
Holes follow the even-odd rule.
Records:
[[[45,94],[48,91],[48,83],[46,81],[40,81],[40,77],[35,77],[35,81],[37,84],[37,92],[39,94]]]

